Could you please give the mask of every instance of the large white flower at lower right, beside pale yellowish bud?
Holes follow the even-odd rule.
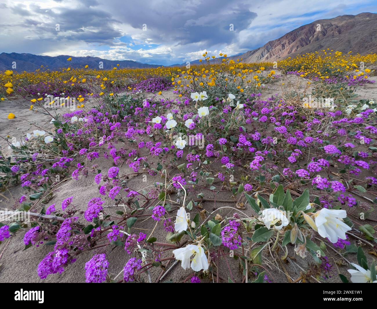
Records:
[[[323,238],[328,238],[332,243],[336,243],[338,238],[346,239],[346,232],[351,228],[339,218],[347,217],[345,210],[322,208],[316,213],[316,226],[318,233]]]

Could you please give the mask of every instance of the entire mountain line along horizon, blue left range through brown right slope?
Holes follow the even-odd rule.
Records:
[[[349,52],[354,54],[369,54],[377,52],[377,14],[361,13],[358,15],[341,15],[330,19],[320,19],[308,25],[301,26],[282,37],[266,43],[264,46],[229,56],[229,59],[240,59],[243,62],[275,61],[287,57],[296,57],[307,52],[333,49],[334,51]],[[45,69],[57,70],[67,68],[98,68],[103,62],[103,69],[112,69],[117,64],[120,68],[157,68],[162,65],[149,65],[133,60],[106,60],[99,57],[72,57],[69,55],[56,57],[38,56],[32,54],[17,54],[12,52],[0,54],[0,70],[12,69],[15,61],[17,69],[14,71],[35,71],[43,66]],[[221,61],[216,58],[215,61]],[[212,60],[211,60],[212,62]],[[191,65],[199,64],[198,60],[190,61]],[[182,64],[170,66],[186,66]]]

